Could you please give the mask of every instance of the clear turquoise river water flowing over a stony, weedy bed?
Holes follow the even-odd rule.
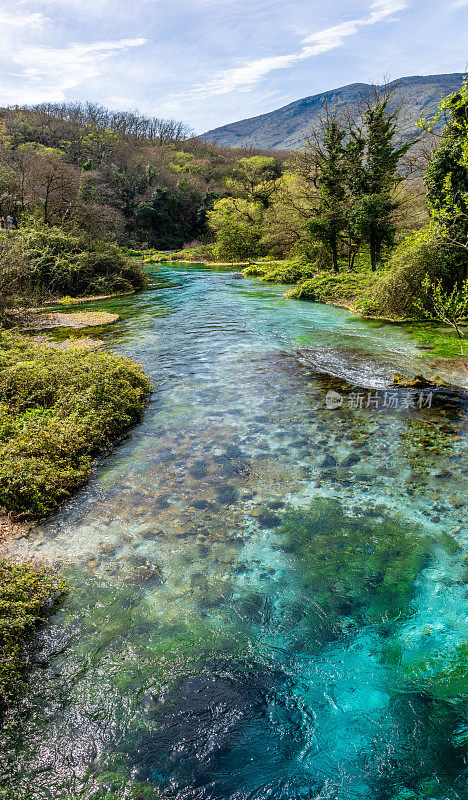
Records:
[[[99,306],[155,380],[142,424],[16,543],[72,591],[5,796],[467,798],[466,407],[349,407],[430,372],[408,330],[229,273],[155,283]]]

